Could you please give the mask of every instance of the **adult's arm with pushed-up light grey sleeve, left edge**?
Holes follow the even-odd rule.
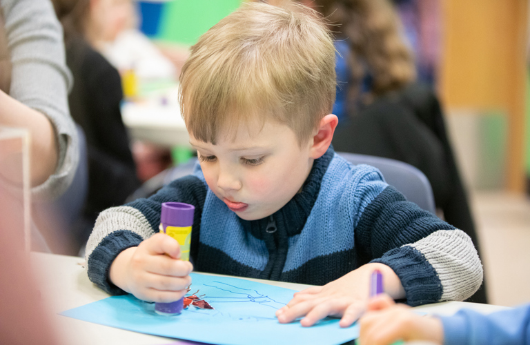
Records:
[[[70,186],[79,161],[78,138],[68,111],[72,77],[66,67],[63,31],[49,0],[0,0],[0,6],[12,62],[10,97],[36,110],[7,111],[0,115],[0,124],[30,130],[32,195],[53,199]],[[18,105],[6,103],[9,106]]]

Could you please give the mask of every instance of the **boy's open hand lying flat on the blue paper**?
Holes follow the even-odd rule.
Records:
[[[370,275],[379,269],[384,276],[384,288],[395,298],[404,297],[400,279],[383,264],[366,264],[324,286],[314,286],[295,293],[286,306],[276,311],[278,321],[293,322],[298,317],[302,326],[313,326],[326,316],[342,317],[341,327],[349,327],[366,310],[369,300]]]

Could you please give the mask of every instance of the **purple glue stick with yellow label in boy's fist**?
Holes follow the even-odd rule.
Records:
[[[180,244],[180,259],[190,259],[191,226],[195,206],[181,202],[164,202],[160,215],[159,230],[177,240]],[[184,308],[184,297],[175,302],[156,303],[159,315],[179,315]]]

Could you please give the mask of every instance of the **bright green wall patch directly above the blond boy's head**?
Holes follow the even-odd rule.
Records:
[[[192,45],[239,7],[242,0],[173,0],[166,3],[157,39]]]

